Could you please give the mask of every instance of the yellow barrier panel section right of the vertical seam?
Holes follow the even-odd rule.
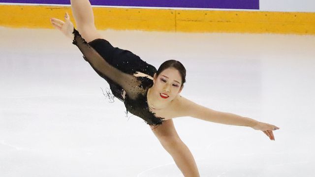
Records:
[[[177,10],[179,31],[315,34],[315,13]]]

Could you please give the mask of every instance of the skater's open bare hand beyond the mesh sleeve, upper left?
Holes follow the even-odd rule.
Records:
[[[66,12],[64,15],[65,22],[62,20],[56,19],[56,18],[51,18],[50,23],[55,27],[56,29],[59,29],[60,31],[63,32],[63,34],[71,39],[73,39],[73,24],[70,21],[70,16]]]

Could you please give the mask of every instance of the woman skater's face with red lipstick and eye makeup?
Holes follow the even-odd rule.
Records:
[[[163,70],[158,76],[154,74],[153,82],[155,94],[161,100],[173,100],[183,89],[181,74],[173,67]]]

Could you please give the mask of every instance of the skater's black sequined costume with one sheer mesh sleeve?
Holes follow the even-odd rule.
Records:
[[[113,95],[124,102],[127,112],[144,119],[147,124],[161,124],[163,118],[156,117],[147,103],[148,89],[153,86],[153,81],[133,76],[138,71],[153,77],[157,69],[130,51],[113,47],[105,39],[87,43],[76,29],[73,29],[73,34],[72,43],[96,73],[108,82]]]

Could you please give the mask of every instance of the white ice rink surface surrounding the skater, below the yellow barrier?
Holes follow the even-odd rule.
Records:
[[[275,124],[175,118],[201,177],[313,177],[315,36],[100,31],[158,66],[187,68],[182,95]],[[0,28],[0,177],[182,177],[150,127],[53,29]],[[131,117],[130,117],[131,116]]]

